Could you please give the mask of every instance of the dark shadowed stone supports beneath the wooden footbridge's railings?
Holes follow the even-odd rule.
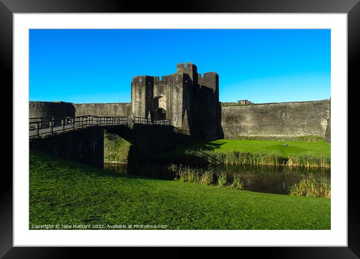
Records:
[[[54,134],[29,141],[30,149],[50,155],[104,168],[104,130],[117,134],[131,143],[128,164],[146,161],[151,156],[175,148],[179,140],[171,125],[134,124],[92,126]]]

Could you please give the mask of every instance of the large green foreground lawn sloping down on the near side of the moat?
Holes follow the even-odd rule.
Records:
[[[30,150],[33,224],[330,229],[330,199],[121,175]]]

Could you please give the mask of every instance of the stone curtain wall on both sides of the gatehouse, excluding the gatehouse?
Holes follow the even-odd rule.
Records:
[[[30,117],[131,116],[132,110],[131,103],[31,101],[29,113]],[[319,136],[330,143],[330,100],[225,106],[221,126],[225,139]]]

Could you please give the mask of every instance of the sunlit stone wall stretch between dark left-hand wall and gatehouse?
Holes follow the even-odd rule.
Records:
[[[131,116],[131,103],[73,103],[75,116]]]

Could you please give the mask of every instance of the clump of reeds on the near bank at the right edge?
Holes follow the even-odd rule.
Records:
[[[303,180],[289,187],[289,194],[294,196],[308,196],[331,198],[331,184],[326,178],[315,177],[313,174],[303,176]]]

